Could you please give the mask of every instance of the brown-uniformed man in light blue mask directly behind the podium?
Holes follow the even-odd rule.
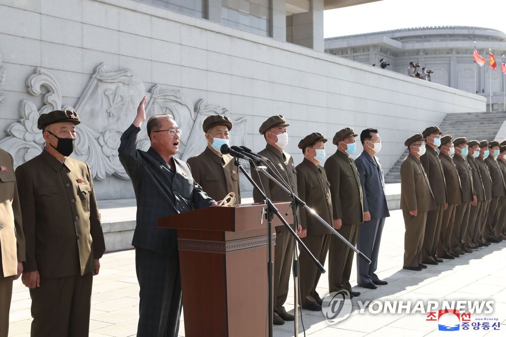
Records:
[[[239,170],[234,164],[234,157],[220,151],[223,144],[228,145],[232,120],[227,116],[209,116],[204,119],[202,129],[207,147],[204,152],[186,161],[190,165],[193,179],[213,199],[222,200],[228,193],[234,192],[235,203],[241,203]]]

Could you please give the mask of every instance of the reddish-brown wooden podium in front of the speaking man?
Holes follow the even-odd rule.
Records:
[[[275,203],[283,217],[289,204]],[[178,230],[186,337],[267,335],[266,207],[205,207],[158,219],[158,227]],[[273,233],[279,225],[274,216]]]

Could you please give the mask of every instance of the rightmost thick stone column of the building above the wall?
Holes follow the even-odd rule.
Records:
[[[324,51],[323,0],[310,0],[308,13],[293,14],[293,43]]]

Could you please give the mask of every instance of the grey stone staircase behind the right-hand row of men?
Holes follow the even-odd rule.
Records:
[[[504,120],[506,120],[506,111],[449,113],[439,128],[443,135],[452,135],[453,138],[463,136],[468,140],[491,141],[494,140]],[[401,164],[407,155],[406,149],[385,176],[386,183],[401,182]]]

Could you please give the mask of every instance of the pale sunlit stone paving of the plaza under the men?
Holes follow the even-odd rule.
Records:
[[[433,335],[473,335],[500,336],[506,331],[506,242],[492,244],[455,260],[445,260],[438,266],[429,266],[420,272],[403,270],[404,223],[400,210],[391,212],[387,219],[377,274],[389,282],[369,290],[358,286],[354,290],[362,294],[352,300],[352,312],[346,320],[329,325],[321,312],[303,310],[300,321],[306,334],[321,336],[433,336]],[[328,266],[325,266],[328,269]],[[135,274],[135,252],[124,250],[111,252],[101,259],[100,274],[94,278],[92,311],[90,322],[91,337],[135,336],[137,331],[139,285]],[[352,271],[352,285],[356,284],[356,269]],[[327,277],[324,274],[319,283],[321,296],[327,293]],[[293,289],[290,289],[293,294]],[[437,321],[427,321],[427,314],[420,311],[413,314],[371,313],[368,308],[360,312],[358,301],[386,300],[403,301],[481,301],[492,300],[493,312],[486,315],[489,329],[484,326],[473,330],[458,332],[438,331]],[[293,312],[293,297],[285,306]],[[208,308],[212,310],[212,308]],[[374,309],[374,308],[373,308]],[[374,310],[372,310],[374,312]],[[205,311],[204,311],[205,312]],[[10,316],[10,336],[28,336],[30,331],[30,297],[21,281],[15,281]],[[492,323],[500,322],[500,330],[493,330]],[[462,322],[463,323],[463,322]],[[482,323],[483,324],[483,323]],[[293,336],[293,324],[286,322],[274,326],[274,336]],[[180,335],[184,336],[184,320]],[[244,331],[243,336],[248,336]]]

